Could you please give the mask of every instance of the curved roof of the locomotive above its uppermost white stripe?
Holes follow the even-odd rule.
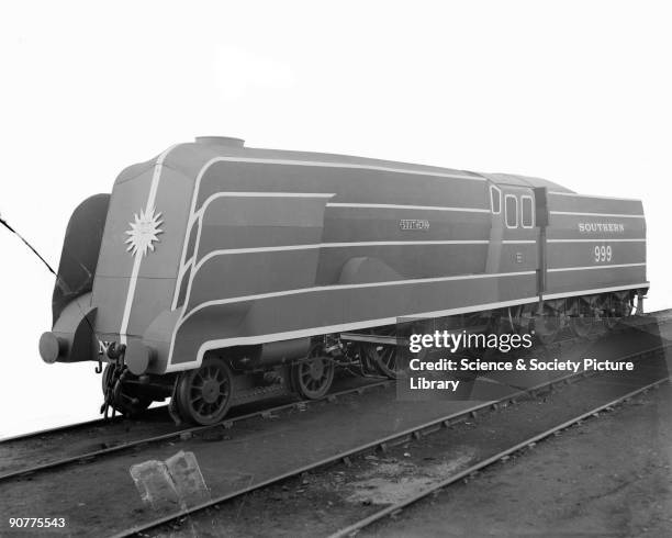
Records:
[[[379,166],[385,168],[403,168],[410,172],[413,171],[433,171],[441,173],[455,173],[461,176],[473,176],[486,178],[490,181],[497,184],[515,184],[520,187],[548,187],[549,190],[559,192],[573,192],[558,183],[552,181],[528,177],[518,176],[512,173],[482,173],[470,170],[458,170],[453,168],[444,168],[438,166],[429,165],[417,165],[413,162],[402,162],[384,159],[373,159],[369,157],[357,157],[351,155],[339,155],[339,154],[326,154],[326,153],[314,153],[314,152],[296,152],[288,149],[268,149],[268,148],[256,148],[256,147],[236,147],[228,145],[219,144],[203,144],[203,143],[186,143],[179,144],[181,149],[186,149],[186,153],[181,153],[181,157],[177,157],[178,152],[175,149],[171,152],[169,158],[164,162],[170,168],[181,169],[191,168],[187,161],[193,164],[193,160],[201,160],[206,162],[213,157],[226,156],[226,157],[240,157],[240,158],[261,158],[261,159],[281,159],[281,160],[302,160],[302,161],[318,161],[318,162],[334,162],[335,165],[348,164],[348,165],[361,165],[361,166]],[[139,162],[127,167],[116,179],[117,183],[128,181],[142,173],[147,168],[155,165],[156,159],[154,157],[145,162]],[[183,159],[184,162],[180,162]]]

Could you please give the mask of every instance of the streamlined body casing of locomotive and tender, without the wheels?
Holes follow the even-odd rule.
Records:
[[[541,179],[204,139],[117,178],[87,326],[126,344],[135,372],[181,371],[212,349],[645,290],[645,233],[641,202]],[[591,261],[606,244],[609,261]],[[59,323],[55,360],[79,360]]]

